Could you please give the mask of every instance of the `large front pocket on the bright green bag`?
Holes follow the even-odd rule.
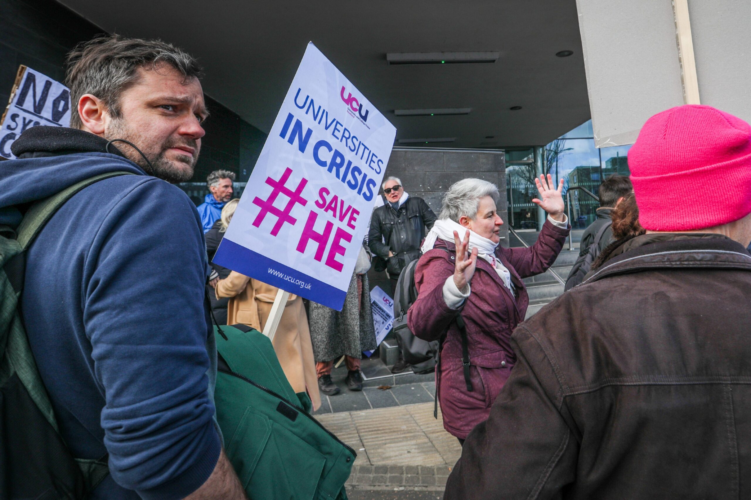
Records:
[[[251,498],[269,500],[315,498],[326,462],[314,447],[251,407],[228,444],[227,456]]]

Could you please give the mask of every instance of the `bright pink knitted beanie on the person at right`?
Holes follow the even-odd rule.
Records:
[[[648,230],[697,230],[751,213],[751,127],[713,107],[652,116],[629,150],[629,170]]]

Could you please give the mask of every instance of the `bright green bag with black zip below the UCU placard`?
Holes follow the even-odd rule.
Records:
[[[357,453],[312,417],[269,338],[245,325],[214,332],[216,420],[249,498],[346,500]]]

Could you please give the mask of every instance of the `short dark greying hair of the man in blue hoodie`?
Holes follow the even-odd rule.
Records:
[[[138,68],[157,70],[169,65],[182,74],[184,83],[203,76],[198,61],[172,44],[120,35],[99,36],[78,44],[68,53],[67,64],[65,85],[71,89],[73,128],[83,125],[75,110],[85,94],[95,95],[110,116],[120,118],[119,97],[139,80]]]

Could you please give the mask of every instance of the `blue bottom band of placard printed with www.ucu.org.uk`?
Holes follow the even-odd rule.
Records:
[[[213,263],[336,311],[342,310],[347,296],[346,291],[279,264],[227,238],[219,243]]]

